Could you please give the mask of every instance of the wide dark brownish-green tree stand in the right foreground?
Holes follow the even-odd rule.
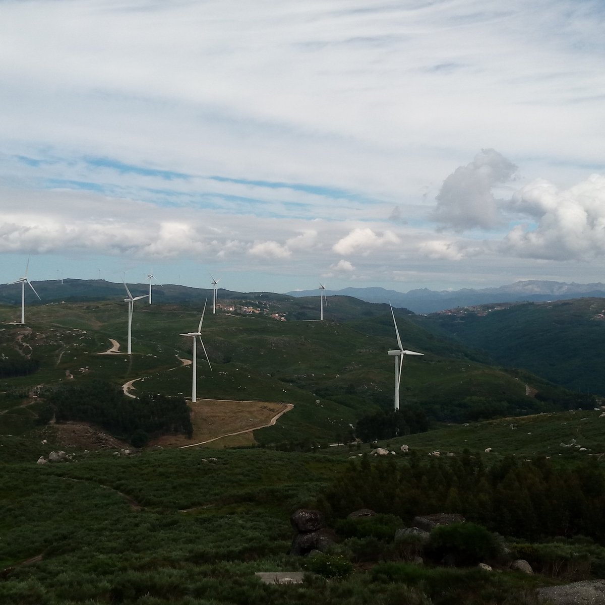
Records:
[[[319,499],[325,512],[345,517],[371,508],[406,522],[415,515],[458,512],[503,535],[540,540],[585,535],[605,543],[605,476],[591,459],[557,468],[544,458],[506,457],[486,468],[468,451],[456,458],[402,463],[389,456],[352,462]]]

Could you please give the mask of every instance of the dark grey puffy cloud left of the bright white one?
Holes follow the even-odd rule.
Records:
[[[509,181],[516,169],[499,152],[483,149],[473,162],[456,168],[443,181],[430,219],[455,231],[498,226],[502,217],[492,189]]]

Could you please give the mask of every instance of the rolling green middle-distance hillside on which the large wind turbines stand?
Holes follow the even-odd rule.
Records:
[[[353,319],[278,321],[273,313],[293,316],[297,308],[304,312],[310,303],[284,300],[280,295],[265,298],[258,303],[258,313],[212,315],[206,310],[203,338],[212,371],[198,351],[198,396],[293,404],[293,410],[275,427],[255,432],[260,442],[341,440],[359,417],[393,405],[393,358],[386,352],[396,341],[388,306],[343,297],[333,304],[340,305],[342,316]],[[266,305],[264,311],[261,305]],[[27,327],[8,323],[15,307],[0,307],[0,321],[5,322],[0,355],[5,363],[15,359],[39,362],[34,373],[0,378],[0,391],[10,394],[7,405],[12,410],[3,414],[0,424],[10,420],[13,430],[31,427],[35,420],[31,412],[41,404],[22,407],[19,396],[41,385],[93,379],[122,385],[137,380],[134,388],[139,395],[189,396],[191,367],[181,365],[178,358],[191,359],[192,344],[180,334],[195,329],[202,309],[203,301],[151,306],[145,300],[137,302],[133,355],[126,356],[99,355],[111,347],[110,339],[125,350],[123,302],[31,306]],[[527,395],[528,384],[534,391],[551,388],[545,381],[529,375],[520,380],[518,373],[480,364],[475,353],[437,338],[412,318],[411,313],[397,310],[406,346],[425,356],[405,361],[402,405],[421,404],[439,420],[464,420],[465,410],[481,407],[483,400],[505,402],[497,413],[548,410]]]

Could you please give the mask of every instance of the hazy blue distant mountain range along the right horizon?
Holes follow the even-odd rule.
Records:
[[[290,296],[318,296],[318,290],[287,292]],[[429,290],[427,288],[397,292],[384,288],[345,288],[325,290],[327,296],[354,296],[367,302],[391,302],[394,307],[405,307],[414,313],[434,313],[456,307],[472,307],[490,302],[543,302],[583,298],[584,296],[605,297],[605,284],[566,284],[560,281],[526,280],[508,286],[474,290]]]

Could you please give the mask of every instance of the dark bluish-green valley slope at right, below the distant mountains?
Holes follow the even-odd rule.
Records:
[[[415,319],[436,333],[485,350],[493,362],[525,368],[572,390],[605,395],[602,298],[495,307]]]

